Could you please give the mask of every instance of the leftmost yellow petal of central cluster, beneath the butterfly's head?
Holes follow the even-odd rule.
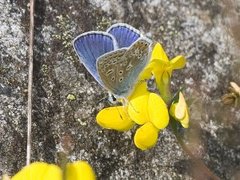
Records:
[[[127,113],[127,108],[123,106],[104,108],[98,113],[96,119],[103,128],[117,131],[127,131],[134,125]]]

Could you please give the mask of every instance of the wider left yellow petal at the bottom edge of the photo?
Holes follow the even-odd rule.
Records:
[[[12,180],[61,180],[61,169],[53,164],[44,162],[35,162],[29,166],[24,167]]]

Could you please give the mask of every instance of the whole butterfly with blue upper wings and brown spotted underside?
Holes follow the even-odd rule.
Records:
[[[73,41],[74,49],[96,81],[117,98],[127,97],[149,61],[151,40],[117,23],[106,32],[89,31]]]

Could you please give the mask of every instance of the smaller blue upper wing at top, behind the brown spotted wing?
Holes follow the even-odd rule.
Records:
[[[131,46],[139,37],[142,36],[137,29],[124,23],[112,25],[108,28],[107,32],[115,37],[119,48]]]

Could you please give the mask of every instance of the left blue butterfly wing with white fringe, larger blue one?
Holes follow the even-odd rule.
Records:
[[[75,38],[73,47],[86,69],[103,86],[96,68],[96,61],[101,55],[117,49],[115,38],[105,32],[90,31]]]

